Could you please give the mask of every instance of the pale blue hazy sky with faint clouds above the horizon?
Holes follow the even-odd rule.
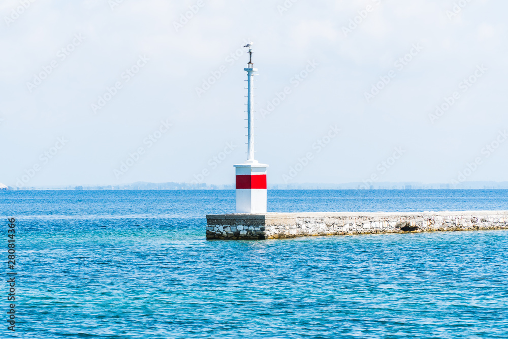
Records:
[[[501,0],[3,0],[13,187],[508,180]]]

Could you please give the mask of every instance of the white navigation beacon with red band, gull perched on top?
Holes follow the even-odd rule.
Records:
[[[249,47],[247,68],[247,160],[236,168],[236,212],[266,213],[266,168],[254,160],[254,72],[258,71],[252,63],[252,42]]]

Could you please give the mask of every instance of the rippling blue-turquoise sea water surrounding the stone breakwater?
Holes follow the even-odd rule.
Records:
[[[16,338],[506,338],[508,232],[205,239],[234,191],[0,191]],[[508,191],[269,191],[270,211],[507,210]]]

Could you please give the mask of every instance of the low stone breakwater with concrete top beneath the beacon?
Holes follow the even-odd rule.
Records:
[[[508,211],[264,213],[206,216],[207,239],[508,229]]]

